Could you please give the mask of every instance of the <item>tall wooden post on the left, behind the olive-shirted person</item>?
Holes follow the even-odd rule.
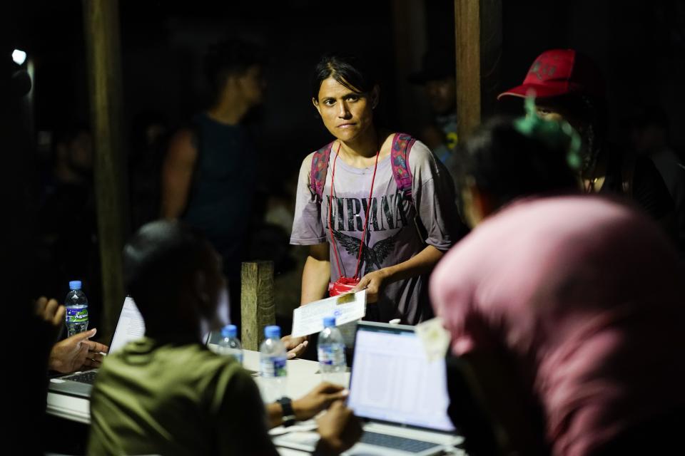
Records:
[[[118,0],[83,0],[83,30],[95,150],[93,172],[103,297],[101,334],[108,336],[123,304],[121,250],[128,227]]]

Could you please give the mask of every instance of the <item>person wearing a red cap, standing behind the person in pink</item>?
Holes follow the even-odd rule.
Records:
[[[504,97],[533,96],[537,113],[548,120],[567,120],[581,135],[580,177],[587,193],[619,193],[674,232],[674,203],[654,167],[644,157],[619,152],[606,140],[607,107],[602,74],[594,62],[573,49],[540,54],[520,86]]]

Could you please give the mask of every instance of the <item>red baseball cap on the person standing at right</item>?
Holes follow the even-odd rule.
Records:
[[[535,98],[557,97],[575,93],[604,98],[604,80],[599,68],[588,56],[573,49],[550,49],[540,54],[520,86],[497,95],[525,97],[529,90]]]

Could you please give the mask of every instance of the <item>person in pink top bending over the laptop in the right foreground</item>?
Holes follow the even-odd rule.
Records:
[[[432,305],[504,452],[666,454],[685,421],[676,250],[626,204],[550,196],[564,185],[530,151],[564,150],[540,138],[500,123],[467,142],[462,196],[475,229],[432,274]],[[525,187],[502,177],[519,170]]]

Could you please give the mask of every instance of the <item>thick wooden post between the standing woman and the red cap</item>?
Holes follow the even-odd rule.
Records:
[[[494,106],[502,52],[501,0],[455,0],[455,39],[457,134],[461,141]]]

